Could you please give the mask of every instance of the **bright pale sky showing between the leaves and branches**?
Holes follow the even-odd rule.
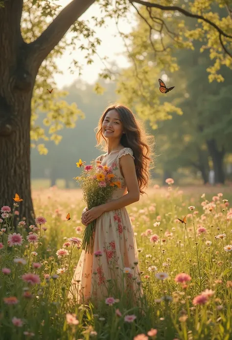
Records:
[[[70,2],[70,0],[59,0],[58,2],[62,7],[65,7]],[[100,16],[100,10],[97,4],[93,4],[79,19],[90,20],[93,25],[93,20],[91,20],[93,15]],[[104,56],[108,56],[109,61],[114,60],[119,66],[129,66],[128,59],[123,55],[123,52],[125,52],[125,47],[121,37],[118,35],[115,21],[108,19],[107,25],[107,28],[96,27],[94,29],[96,31],[96,36],[102,41],[101,45],[97,46],[97,53],[102,58]],[[131,31],[133,25],[135,25],[135,21],[132,20],[132,22],[129,23],[128,21],[121,19],[119,22],[119,29],[124,33],[128,33]],[[117,35],[116,37],[114,36],[115,34]],[[67,33],[67,36],[71,37],[71,33]],[[78,42],[78,45],[79,44],[80,42]],[[84,52],[81,52],[80,50],[72,51],[71,49],[67,48],[67,51],[63,54],[63,56],[56,59],[59,69],[63,71],[63,75],[54,75],[58,88],[62,88],[65,85],[70,85],[77,78],[81,78],[91,84],[96,81],[98,78],[98,73],[104,69],[104,65],[97,55],[93,56],[93,64],[87,65],[84,56]],[[79,76],[78,70],[75,71],[74,69],[75,72],[73,74],[71,74],[68,70],[73,58],[83,64],[81,76]]]

